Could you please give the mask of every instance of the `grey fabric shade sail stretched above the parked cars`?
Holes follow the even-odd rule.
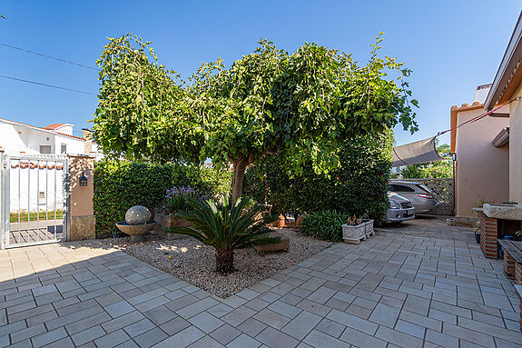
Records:
[[[444,158],[437,154],[435,137],[419,140],[415,143],[396,146],[393,148],[391,159],[392,167],[409,164],[426,164],[442,161]]]

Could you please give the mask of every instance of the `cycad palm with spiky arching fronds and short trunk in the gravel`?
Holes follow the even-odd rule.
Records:
[[[263,207],[251,199],[239,198],[235,204],[222,196],[221,203],[212,200],[189,202],[192,212],[175,216],[192,224],[192,227],[168,227],[165,232],[190,235],[203,244],[216,249],[216,272],[227,274],[234,269],[234,250],[255,245],[272,244],[279,237],[270,237],[267,223],[275,219],[262,216]]]

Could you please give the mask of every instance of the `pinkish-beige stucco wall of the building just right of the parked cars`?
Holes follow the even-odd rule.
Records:
[[[458,113],[457,124],[483,114],[484,109]],[[457,131],[457,216],[474,217],[481,200],[505,202],[509,196],[509,146],[495,147],[491,141],[508,125],[502,117],[484,117]]]

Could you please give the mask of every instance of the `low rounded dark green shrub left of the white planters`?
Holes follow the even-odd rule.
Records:
[[[342,240],[342,224],[346,224],[346,215],[336,211],[325,210],[308,214],[302,222],[302,232],[325,241],[340,242]]]

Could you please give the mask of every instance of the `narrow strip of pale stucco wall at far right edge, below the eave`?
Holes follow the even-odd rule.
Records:
[[[513,98],[517,96],[522,96],[522,85]],[[522,101],[509,106],[509,199],[522,204]]]

